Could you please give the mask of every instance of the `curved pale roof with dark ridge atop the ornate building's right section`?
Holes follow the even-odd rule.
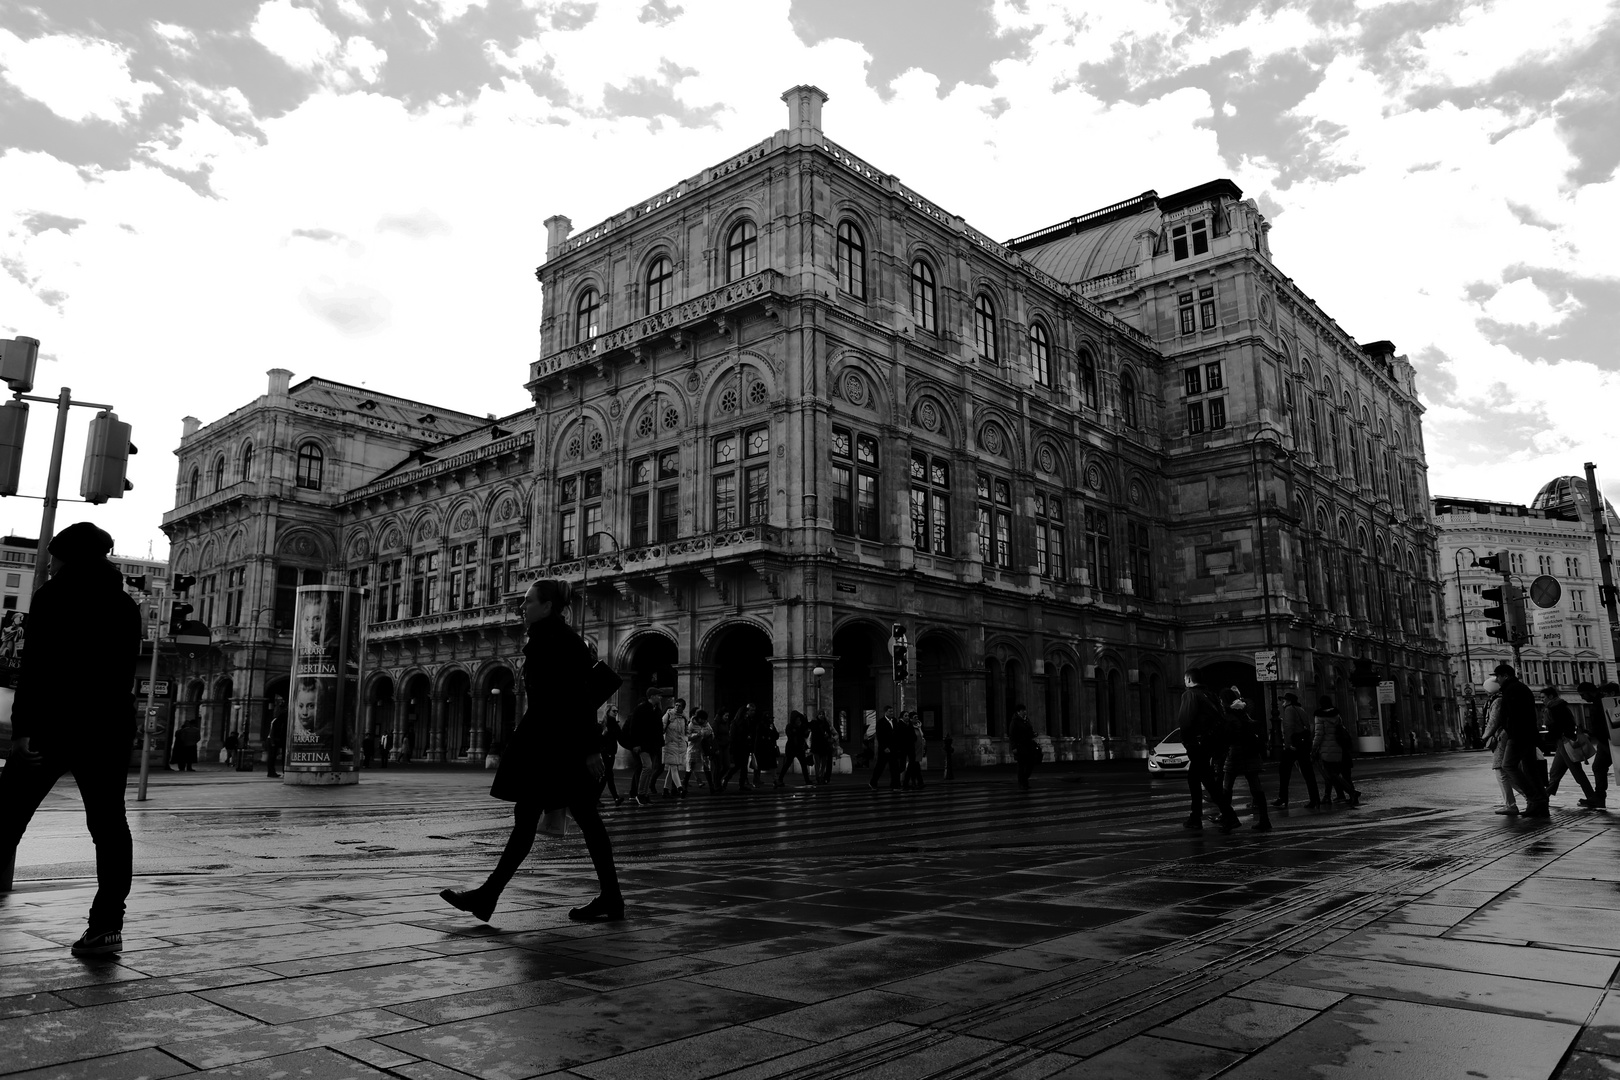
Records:
[[[1212,180],[1166,196],[1144,191],[1009,240],[1006,246],[1059,282],[1076,285],[1136,266],[1140,262],[1136,241],[1140,233],[1153,233],[1157,238],[1165,214],[1218,198],[1241,199],[1243,189],[1230,180]]]

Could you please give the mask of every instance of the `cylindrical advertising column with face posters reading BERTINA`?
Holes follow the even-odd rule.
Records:
[[[298,589],[285,784],[360,780],[361,601],[360,589],[337,585]]]

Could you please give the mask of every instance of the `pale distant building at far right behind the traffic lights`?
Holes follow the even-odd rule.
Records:
[[[1578,494],[1576,494],[1578,492]],[[1620,526],[1604,500],[1607,525]],[[1531,640],[1520,649],[1520,677],[1541,690],[1557,687],[1571,699],[1581,682],[1602,683],[1614,677],[1615,651],[1609,620],[1599,602],[1597,539],[1586,481],[1560,476],[1547,483],[1531,505],[1486,499],[1435,497],[1440,563],[1450,575],[1445,588],[1447,643],[1458,695],[1484,704],[1481,690],[1497,664],[1513,662],[1513,648],[1486,635],[1482,589],[1502,583],[1500,575],[1473,567],[1490,552],[1508,552],[1513,581],[1528,589],[1541,576],[1558,583],[1558,602],[1537,609],[1526,602]],[[1461,593],[1461,596],[1460,596]],[[1466,644],[1464,644],[1466,641]],[[1479,717],[1481,725],[1484,717]]]

